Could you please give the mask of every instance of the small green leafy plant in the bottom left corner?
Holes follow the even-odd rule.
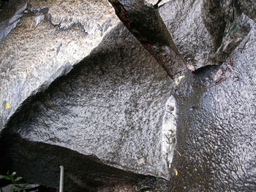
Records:
[[[15,177],[16,172],[12,172],[12,174],[7,172],[7,175],[4,175],[4,179],[10,180],[12,182],[12,191],[18,191],[18,192],[26,192],[26,188],[29,185],[29,183],[25,184],[19,184],[18,181],[22,180],[22,177]]]

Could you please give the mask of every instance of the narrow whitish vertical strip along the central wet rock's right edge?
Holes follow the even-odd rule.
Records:
[[[170,164],[173,161],[173,152],[176,147],[176,100],[173,96],[165,104],[166,110],[162,124],[162,154],[163,160]]]

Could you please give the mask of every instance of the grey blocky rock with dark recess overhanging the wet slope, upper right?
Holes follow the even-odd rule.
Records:
[[[236,9],[230,0],[169,1],[159,12],[187,64],[199,69],[225,61],[248,34],[248,23]],[[238,30],[231,33],[235,23]]]

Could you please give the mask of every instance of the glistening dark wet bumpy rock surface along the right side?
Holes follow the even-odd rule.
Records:
[[[252,30],[230,55],[233,66],[189,74],[176,91],[182,156],[175,155],[170,191],[256,191],[256,25],[249,22]],[[230,77],[207,88],[218,69]]]

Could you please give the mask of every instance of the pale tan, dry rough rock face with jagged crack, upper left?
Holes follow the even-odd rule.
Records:
[[[107,1],[29,1],[19,6],[26,12],[0,42],[0,128],[24,100],[69,72],[119,23]],[[19,18],[20,10],[7,23]],[[10,110],[4,110],[6,102]]]

